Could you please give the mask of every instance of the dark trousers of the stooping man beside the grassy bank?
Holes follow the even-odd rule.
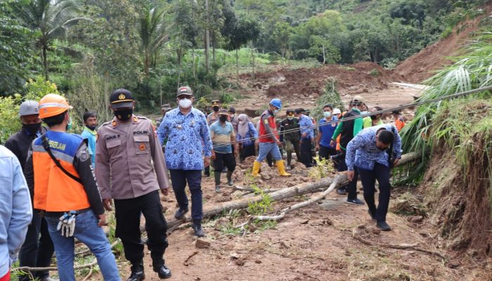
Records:
[[[358,171],[361,174],[364,199],[368,204],[369,211],[375,214],[377,221],[386,221],[390,195],[389,167],[375,163],[373,171],[365,169],[358,169]],[[376,180],[380,184],[380,200],[377,208],[374,200],[374,192],[376,192],[374,185]]]

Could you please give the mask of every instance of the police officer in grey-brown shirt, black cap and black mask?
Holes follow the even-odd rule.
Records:
[[[166,163],[155,129],[149,119],[133,114],[135,101],[125,89],[110,96],[115,118],[98,129],[96,178],[105,208],[115,200],[116,235],[131,263],[129,281],[145,278],[140,218],[145,217],[153,270],[161,279],[171,277],[164,265],[167,223],[162,215],[158,190],[168,194]]]

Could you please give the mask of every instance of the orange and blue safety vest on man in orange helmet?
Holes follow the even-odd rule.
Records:
[[[73,160],[82,144],[80,136],[57,131],[46,132],[51,152],[70,174],[79,178]],[[88,155],[89,157],[89,155]],[[84,186],[65,174],[48,152],[41,137],[32,143],[34,169],[34,209],[44,211],[77,211],[91,206]]]

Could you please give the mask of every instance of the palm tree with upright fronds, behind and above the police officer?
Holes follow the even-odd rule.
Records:
[[[153,56],[159,47],[167,41],[166,25],[164,24],[165,11],[153,8],[140,18],[140,39],[143,52],[143,66],[145,77],[149,77],[149,68]]]

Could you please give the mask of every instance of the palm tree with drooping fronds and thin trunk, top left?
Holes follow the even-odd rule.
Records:
[[[79,9],[73,0],[32,0],[29,4],[18,4],[13,9],[25,27],[39,33],[36,46],[41,49],[44,78],[48,80],[47,51],[53,39],[64,38],[67,28],[77,24]]]

